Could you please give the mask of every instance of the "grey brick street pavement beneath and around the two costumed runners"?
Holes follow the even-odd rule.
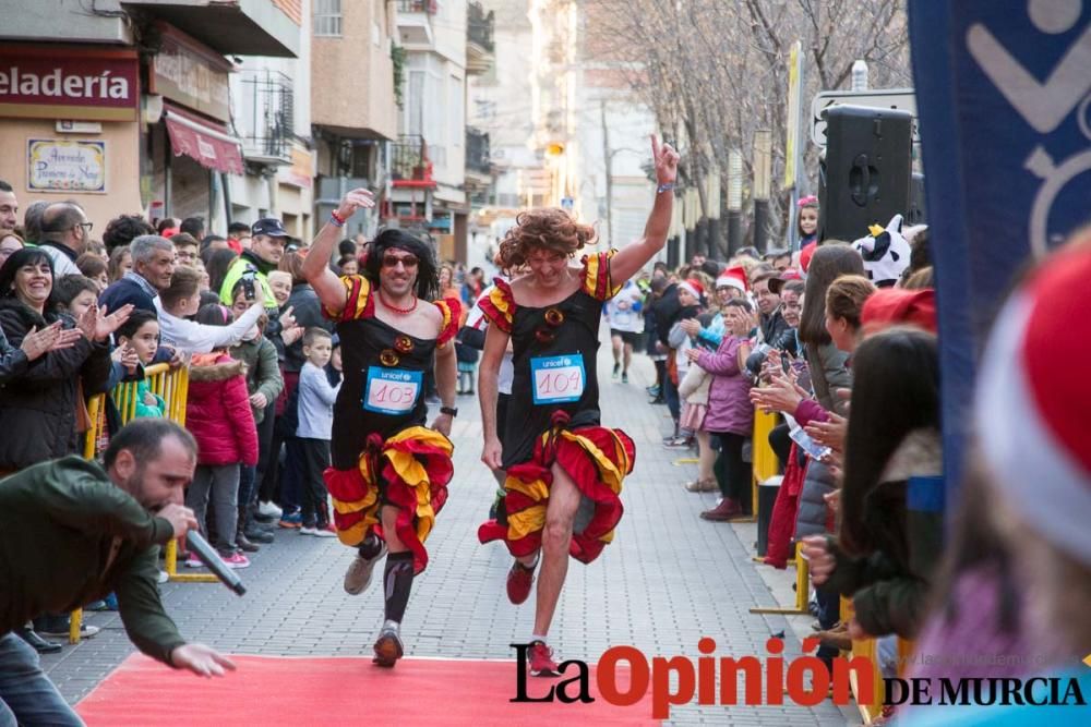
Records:
[[[631,383],[611,383],[609,348],[599,353],[603,423],[621,426],[636,441],[633,475],[622,499],[625,517],[615,542],[590,566],[568,570],[551,645],[564,658],[596,661],[611,645],[634,645],[650,655],[696,658],[702,637],[717,642],[716,655],[764,655],[765,641],[788,632],[786,656],[800,643],[780,616],[751,615],[775,605],[770,586],[751,562],[746,529],[708,523],[697,514],[711,495],[686,493],[692,464],[674,465],[678,451],[660,445],[669,419],[647,404],[650,363],[637,356]],[[455,480],[451,498],[428,542],[430,564],[413,583],[403,633],[407,653],[419,656],[511,658],[508,644],[529,639],[533,597],[513,607],[504,595],[511,559],[500,544],[481,546],[477,526],[485,518],[495,483],[482,465],[476,402],[459,401],[452,439]],[[348,596],[341,577],[352,554],[335,540],[277,533],[272,546],[240,571],[243,598],[218,584],[167,584],[167,609],[188,638],[231,653],[264,655],[370,655],[382,620],[380,591]],[[769,573],[764,573],[770,578]],[[776,578],[776,577],[774,577]],[[783,575],[791,579],[791,573]],[[88,614],[103,632],[43,658],[72,702],[85,695],[133,647],[116,614]],[[798,628],[798,625],[796,625]],[[799,706],[675,707],[673,724],[841,725],[848,711],[829,702]]]

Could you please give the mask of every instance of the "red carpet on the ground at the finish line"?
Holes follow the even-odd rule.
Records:
[[[515,662],[405,658],[381,669],[370,658],[233,656],[219,679],[175,671],[141,654],[125,659],[76,706],[92,727],[113,725],[647,725],[651,699],[618,707],[512,703]],[[575,675],[573,668],[570,676]],[[562,678],[563,679],[563,678]],[[528,678],[530,696],[558,679]],[[575,684],[570,691],[576,691]]]

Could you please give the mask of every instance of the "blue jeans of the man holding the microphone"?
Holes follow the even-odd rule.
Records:
[[[0,637],[0,727],[83,724],[41,670],[34,649],[14,633]]]

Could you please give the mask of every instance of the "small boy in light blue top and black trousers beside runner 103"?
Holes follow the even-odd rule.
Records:
[[[322,328],[308,328],[303,335],[307,362],[299,372],[299,424],[296,447],[302,463],[303,522],[300,533],[335,537],[329,525],[329,510],[323,472],[329,467],[329,439],[334,421],[334,401],[340,384],[331,386],[325,366],[333,354],[333,337]]]

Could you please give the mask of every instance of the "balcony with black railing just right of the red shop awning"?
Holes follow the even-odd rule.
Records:
[[[259,163],[290,165],[296,100],[291,78],[267,69],[245,71],[235,125],[242,155]]]

